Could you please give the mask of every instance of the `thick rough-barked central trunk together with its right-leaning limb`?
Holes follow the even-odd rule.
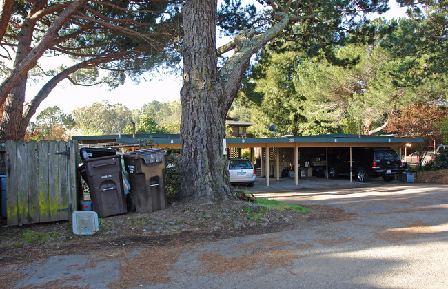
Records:
[[[223,156],[225,116],[241,86],[251,56],[289,23],[285,12],[278,23],[256,34],[243,30],[232,47],[235,54],[217,71],[217,0],[187,0],[183,6],[183,87],[181,89],[181,197],[224,200],[232,196]]]

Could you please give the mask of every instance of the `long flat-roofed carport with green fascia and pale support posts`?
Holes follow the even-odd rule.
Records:
[[[152,138],[162,148],[181,147],[181,140],[179,135],[174,134],[141,134],[133,137],[132,135],[112,135],[112,136],[75,136],[72,139],[78,140],[82,144],[100,145],[102,147],[114,147],[126,150],[139,149],[141,143],[144,143],[148,138]],[[327,134],[320,136],[289,136],[281,138],[227,138],[223,140],[224,153],[227,154],[230,149],[237,149],[238,153],[232,155],[234,158],[241,156],[241,149],[249,148],[250,159],[254,162],[254,149],[260,148],[261,153],[261,175],[267,176],[266,186],[269,186],[270,173],[274,173],[274,178],[280,180],[281,177],[281,151],[285,149],[291,151],[292,156],[289,158],[293,169],[291,175],[294,175],[294,184],[299,184],[299,175],[301,171],[312,172],[309,167],[302,166],[300,150],[301,149],[319,149],[322,158],[319,160],[309,160],[310,162],[320,162],[321,166],[325,168],[325,176],[328,178],[328,151],[330,148],[349,148],[350,162],[352,162],[352,147],[388,147],[396,149],[401,156],[401,151],[406,147],[406,144],[414,142],[422,142],[422,138],[396,138],[394,136],[363,136],[354,134]],[[267,158],[266,156],[269,156]],[[271,160],[274,163],[271,164]],[[303,158],[302,158],[303,159]],[[287,160],[287,162],[289,162]],[[352,175],[350,175],[350,182],[352,182]]]

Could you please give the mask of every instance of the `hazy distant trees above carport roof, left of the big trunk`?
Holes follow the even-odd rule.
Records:
[[[79,107],[65,114],[60,107],[41,111],[36,122],[28,126],[26,139],[68,140],[72,136],[132,133],[179,133],[181,103],[152,101],[141,109],[130,110],[125,105],[107,100]]]

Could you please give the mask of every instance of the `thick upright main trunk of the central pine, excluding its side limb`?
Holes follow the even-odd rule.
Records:
[[[223,88],[217,78],[216,0],[187,0],[183,7],[181,90],[181,197],[225,200],[232,196],[223,138]]]

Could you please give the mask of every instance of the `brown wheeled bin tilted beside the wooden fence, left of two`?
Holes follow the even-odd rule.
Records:
[[[103,156],[84,160],[92,210],[99,217],[126,213],[121,175],[121,156]]]

